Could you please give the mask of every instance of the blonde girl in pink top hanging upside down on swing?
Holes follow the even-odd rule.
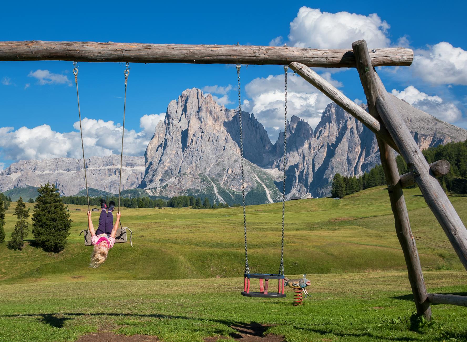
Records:
[[[94,225],[91,221],[91,212],[88,211],[89,231],[91,232],[91,242],[94,245],[94,250],[91,254],[91,264],[89,267],[98,268],[107,259],[109,249],[115,243],[115,235],[117,234],[118,225],[120,223],[120,212],[117,213],[117,220],[113,224],[113,209],[115,202],[110,201],[109,206],[104,199],[100,200],[100,208],[102,209],[99,216],[99,227],[94,231]]]

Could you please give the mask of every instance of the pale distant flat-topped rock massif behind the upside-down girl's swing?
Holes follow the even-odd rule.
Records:
[[[120,156],[91,157],[86,160],[88,186],[116,193],[119,187]],[[123,157],[122,190],[135,188],[144,176],[143,157]],[[21,160],[0,172],[0,190],[55,184],[64,196],[85,188],[83,159],[53,158]]]

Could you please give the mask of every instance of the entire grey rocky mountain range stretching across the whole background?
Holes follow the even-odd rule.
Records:
[[[467,139],[465,129],[392,99],[422,149]],[[139,187],[152,195],[188,194],[240,203],[238,119],[236,110],[219,106],[211,94],[196,88],[185,90],[169,103],[145,156],[124,157],[123,189]],[[283,132],[272,144],[255,115],[246,112],[242,112],[242,128],[247,204],[280,200]],[[307,192],[327,196],[334,174],[361,175],[380,163],[375,135],[334,103],[326,107],[315,129],[292,116],[287,139],[287,197]],[[119,156],[91,157],[86,165],[90,187],[118,192]],[[0,172],[1,191],[46,182],[56,184],[64,195],[78,193],[85,187],[82,160],[20,161]]]

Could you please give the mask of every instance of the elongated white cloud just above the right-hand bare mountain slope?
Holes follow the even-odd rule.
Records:
[[[408,86],[400,92],[393,89],[391,93],[399,99],[407,101],[413,107],[432,114],[441,120],[455,122],[462,117],[462,113],[453,102],[445,102],[437,95],[430,96],[422,93],[413,85]]]

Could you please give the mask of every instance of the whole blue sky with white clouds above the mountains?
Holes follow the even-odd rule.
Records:
[[[407,46],[415,50],[411,67],[379,70],[389,92],[467,128],[465,2],[412,1],[403,7],[375,1],[304,1],[287,6],[273,1],[267,6],[254,2],[109,4],[7,5],[4,14],[9,15],[2,16],[0,41],[287,43],[351,49],[352,41],[365,38],[369,48]],[[78,65],[82,116],[87,119],[86,155],[120,153],[124,65]],[[219,103],[235,107],[236,71],[232,65],[133,63],[130,67],[125,154],[144,153],[155,123],[163,117],[159,114],[186,88],[204,89]],[[0,62],[0,170],[20,159],[79,157],[71,71],[71,62]],[[336,71],[318,72],[350,99],[364,100],[356,71]],[[282,66],[242,67],[241,79],[244,109],[255,113],[275,142],[283,115]],[[289,114],[314,127],[330,100],[298,76],[290,77],[289,92]]]

